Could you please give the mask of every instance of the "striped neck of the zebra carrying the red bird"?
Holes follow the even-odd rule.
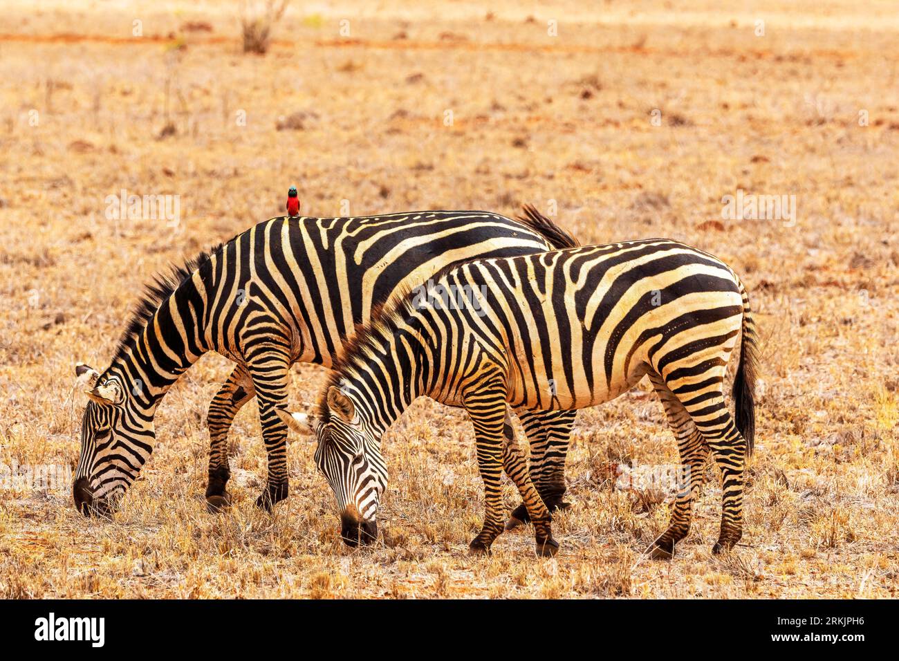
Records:
[[[153,415],[174,382],[209,351],[205,333],[198,327],[203,303],[193,282],[183,282],[134,331],[127,348],[113,360],[109,372],[119,375],[129,397],[147,415]]]

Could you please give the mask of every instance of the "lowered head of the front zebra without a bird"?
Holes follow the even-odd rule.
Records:
[[[317,420],[283,409],[278,409],[278,414],[298,432],[304,427],[315,432],[316,466],[337,499],[343,541],[352,547],[370,544],[378,537],[378,505],[387,488],[379,434],[340,388],[331,386],[325,397],[325,415]]]

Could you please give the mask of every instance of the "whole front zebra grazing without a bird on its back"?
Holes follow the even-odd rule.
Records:
[[[648,374],[689,476],[669,528],[650,548],[654,557],[672,557],[687,535],[709,452],[724,486],[714,550],[740,539],[757,335],[746,290],[730,267],[690,246],[649,239],[478,259],[434,281],[432,290],[411,292],[360,328],[322,391],[317,418],[306,420],[344,529],[348,520],[362,524],[362,540],[377,530],[387,486],[381,434],[416,397],[428,396],[464,406],[475,424],[486,514],[471,549],[489,550],[503,531],[505,468],[535,523],[538,552],[554,552],[549,514],[522,469],[507,406],[531,412],[596,406]],[[734,424],[723,381],[741,330]],[[279,415],[301,429],[302,415]]]

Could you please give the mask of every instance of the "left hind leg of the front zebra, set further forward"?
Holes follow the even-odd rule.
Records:
[[[693,500],[699,497],[705,478],[708,445],[687,409],[681,404],[681,400],[665,385],[662,378],[651,371],[649,379],[653,382],[656,395],[662,401],[668,424],[671,424],[681,454],[681,471],[677,475],[678,491],[674,500],[671,523],[647,549],[650,557],[654,559],[670,559],[674,555],[677,542],[690,532]]]

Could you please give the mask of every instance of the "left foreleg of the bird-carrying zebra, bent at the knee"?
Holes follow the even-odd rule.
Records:
[[[227,433],[237,412],[254,397],[253,383],[245,368],[237,365],[212,401],[209,402],[209,484],[206,487],[206,506],[216,513],[231,504],[227,481],[231,477],[228,466]]]

